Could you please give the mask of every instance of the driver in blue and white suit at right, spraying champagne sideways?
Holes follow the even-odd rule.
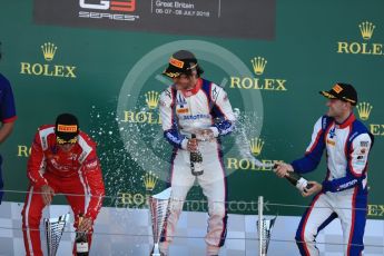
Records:
[[[315,239],[319,230],[338,218],[343,229],[344,254],[361,255],[367,208],[367,167],[373,136],[353,114],[357,92],[353,86],[336,83],[328,91],[328,112],[315,124],[312,141],[303,158],[291,165],[280,164],[277,175],[287,171],[305,174],[314,170],[326,149],[327,175],[322,184],[309,181],[303,196],[315,195],[302,217],[296,242],[302,255],[319,255]]]

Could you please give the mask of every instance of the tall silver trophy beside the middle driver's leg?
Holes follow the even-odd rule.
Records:
[[[171,188],[149,197],[149,210],[152,221],[154,249],[152,256],[160,256],[159,243],[166,219],[168,216],[168,206],[170,200]]]

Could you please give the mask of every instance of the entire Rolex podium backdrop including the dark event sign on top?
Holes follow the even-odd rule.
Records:
[[[266,215],[303,214],[275,205],[309,198],[270,166],[305,154],[327,111],[318,91],[341,81],[357,89],[355,116],[375,136],[367,215],[384,219],[382,10],[381,0],[3,1],[0,72],[12,85],[18,114],[0,149],[4,189],[28,189],[37,128],[72,112],[98,144],[110,196],[105,206],[148,208],[148,198],[167,188],[173,154],[158,111],[171,80],[161,73],[175,51],[187,49],[203,77],[227,91],[237,116],[236,130],[221,139],[230,214],[255,215],[259,195],[270,204]],[[322,181],[325,156],[304,176]],[[24,195],[6,193],[3,200],[22,203]],[[207,210],[199,187],[188,200],[185,210]]]

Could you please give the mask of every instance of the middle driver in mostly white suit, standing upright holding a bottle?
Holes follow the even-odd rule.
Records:
[[[174,146],[170,215],[160,243],[164,255],[168,254],[184,200],[196,179],[208,199],[207,255],[218,255],[226,237],[228,191],[220,138],[234,129],[235,117],[224,89],[200,78],[201,73],[197,59],[186,50],[174,53],[164,72],[174,82],[159,100],[164,135]],[[189,161],[190,151],[197,148],[203,155],[200,176],[191,174]]]

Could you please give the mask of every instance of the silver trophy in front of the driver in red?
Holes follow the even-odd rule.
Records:
[[[69,214],[59,216],[58,218],[45,218],[45,228],[47,237],[47,252],[48,256],[55,256],[60,244],[60,239],[69,221]]]

